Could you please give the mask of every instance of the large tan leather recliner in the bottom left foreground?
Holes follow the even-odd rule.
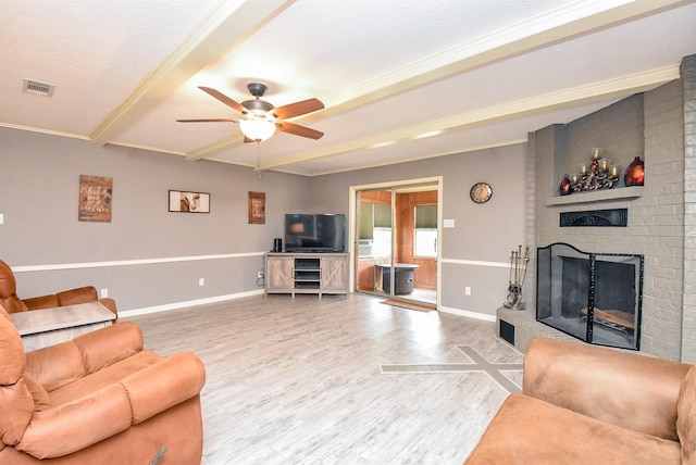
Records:
[[[25,353],[0,306],[0,464],[200,464],[204,382],[130,322]]]

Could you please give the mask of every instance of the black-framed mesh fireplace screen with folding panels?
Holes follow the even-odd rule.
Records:
[[[538,322],[588,343],[641,348],[643,255],[558,242],[537,249],[536,257]]]

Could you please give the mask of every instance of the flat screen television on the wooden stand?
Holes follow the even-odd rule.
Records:
[[[345,252],[346,215],[343,213],[285,215],[286,252]]]

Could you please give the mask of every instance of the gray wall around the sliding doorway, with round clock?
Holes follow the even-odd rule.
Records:
[[[495,319],[507,298],[510,251],[525,244],[526,152],[523,144],[312,178],[318,211],[349,210],[350,186],[443,176],[442,306]],[[474,204],[471,186],[487,181],[493,198]],[[471,288],[471,296],[464,294]]]

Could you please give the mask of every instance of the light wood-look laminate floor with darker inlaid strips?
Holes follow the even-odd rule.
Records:
[[[206,364],[204,465],[461,464],[522,354],[494,323],[383,300],[253,297],[127,319],[147,348]]]

